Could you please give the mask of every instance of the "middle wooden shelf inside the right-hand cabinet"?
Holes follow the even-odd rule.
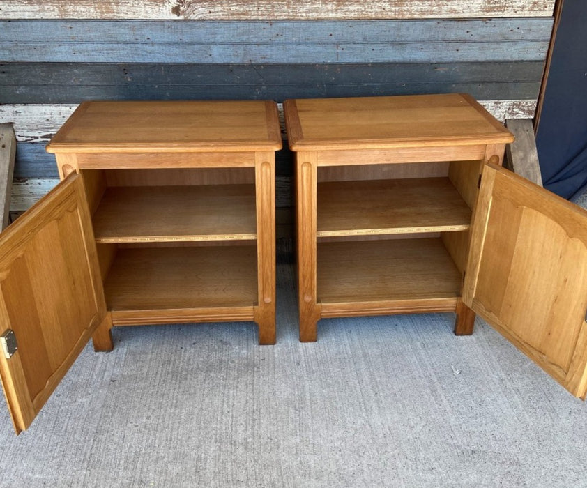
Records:
[[[463,231],[471,209],[448,178],[318,184],[317,237]]]

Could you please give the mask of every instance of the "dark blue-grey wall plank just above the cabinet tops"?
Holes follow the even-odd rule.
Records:
[[[471,93],[531,100],[542,61],[381,64],[8,63],[0,103],[213,100]]]

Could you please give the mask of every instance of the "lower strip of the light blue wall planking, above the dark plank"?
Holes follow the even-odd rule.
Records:
[[[532,61],[544,59],[548,41],[478,43],[377,43],[188,45],[79,43],[43,44],[32,48],[15,44],[0,61],[63,63],[452,63],[465,61]]]

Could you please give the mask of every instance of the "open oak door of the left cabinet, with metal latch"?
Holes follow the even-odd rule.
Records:
[[[98,269],[78,174],[0,234],[0,376],[17,433],[105,317]]]

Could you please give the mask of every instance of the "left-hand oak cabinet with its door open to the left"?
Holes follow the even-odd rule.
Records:
[[[84,102],[63,181],[0,234],[0,374],[29,427],[112,326],[255,321],[275,342],[274,102]]]

